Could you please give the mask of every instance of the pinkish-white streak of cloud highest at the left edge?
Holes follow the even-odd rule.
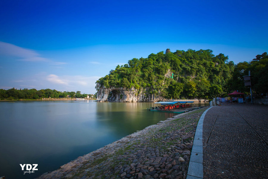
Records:
[[[48,58],[43,58],[35,50],[18,47],[2,41],[0,41],[0,55],[17,57],[19,61],[50,62],[52,65],[66,64],[65,62],[55,62]]]

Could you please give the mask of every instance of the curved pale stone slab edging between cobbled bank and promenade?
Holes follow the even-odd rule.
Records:
[[[210,108],[203,112],[198,121],[186,179],[203,178],[203,121]]]

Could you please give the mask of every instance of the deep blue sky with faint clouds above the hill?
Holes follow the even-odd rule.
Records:
[[[0,1],[0,89],[95,93],[132,58],[211,49],[268,51],[268,1]]]

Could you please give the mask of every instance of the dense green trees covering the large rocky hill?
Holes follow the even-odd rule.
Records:
[[[96,83],[145,90],[165,98],[208,98],[229,92],[233,70],[228,56],[215,56],[212,50],[162,51],[118,65]]]

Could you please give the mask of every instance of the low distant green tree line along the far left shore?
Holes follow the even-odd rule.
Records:
[[[86,98],[88,94],[81,94],[81,91],[77,92],[60,92],[51,89],[15,89],[11,88],[9,90],[0,89],[0,99],[1,100],[13,100],[13,99],[41,99],[41,98]],[[95,98],[95,95],[89,94],[90,98]]]

